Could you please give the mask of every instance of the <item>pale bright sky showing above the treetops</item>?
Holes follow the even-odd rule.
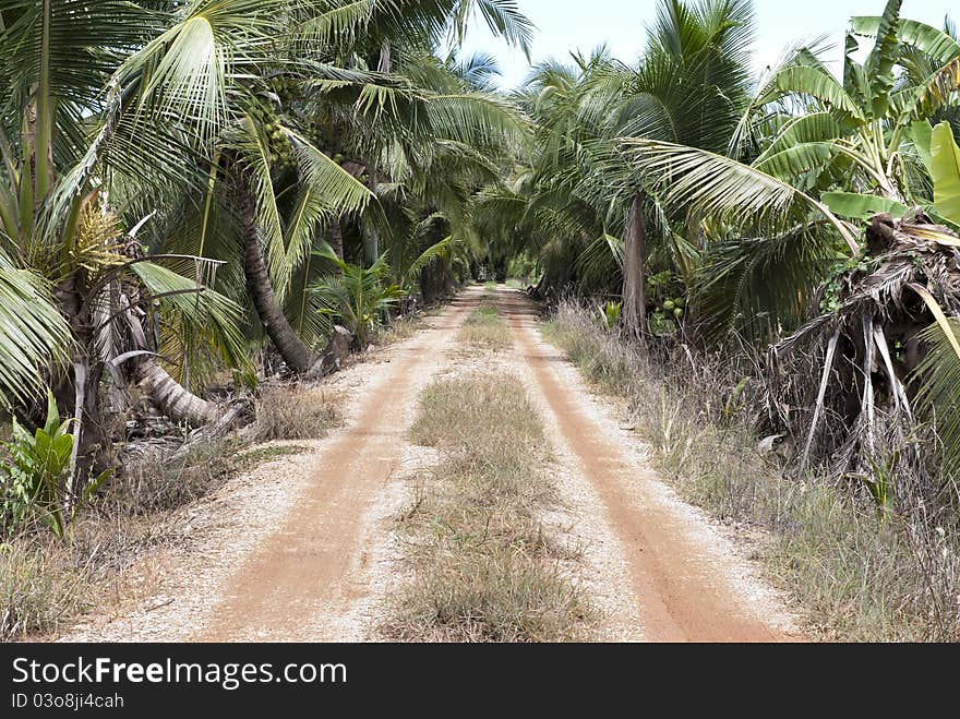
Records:
[[[531,57],[569,59],[571,50],[589,55],[607,44],[615,58],[633,63],[639,56],[646,28],[657,16],[659,0],[517,0],[520,11],[535,25]],[[827,34],[833,48],[828,59],[839,68],[843,58],[843,34],[851,15],[877,15],[885,0],[754,0],[756,43],[754,69],[776,63],[782,50],[797,40]],[[903,0],[902,17],[940,27],[948,9],[960,21],[955,0]],[[524,53],[494,38],[482,19],[473,20],[464,53],[485,50],[496,56],[502,71],[501,86],[513,88],[529,72]]]

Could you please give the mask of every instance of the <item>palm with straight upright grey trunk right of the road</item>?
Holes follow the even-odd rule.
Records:
[[[525,106],[538,120],[538,146],[536,190],[523,220],[544,228],[548,264],[599,277],[622,271],[621,317],[631,333],[646,332],[651,247],[664,249],[683,273],[697,249],[674,231],[652,183],[617,152],[615,140],[724,149],[748,101],[752,38],[748,2],[671,0],[661,3],[636,65],[601,49],[575,56],[574,67],[544,63],[528,84]],[[509,196],[491,201],[506,205]],[[569,279],[548,266],[544,281],[551,278]]]

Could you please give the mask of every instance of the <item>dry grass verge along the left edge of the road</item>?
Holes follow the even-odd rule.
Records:
[[[272,387],[257,409],[251,432],[257,441],[322,436],[341,421],[320,390]],[[85,611],[109,611],[134,594],[148,595],[152,587],[141,586],[142,577],[128,586],[128,570],[141,566],[153,550],[184,540],[175,511],[239,472],[302,450],[250,446],[249,439],[232,436],[194,444],[176,459],[128,458],[80,513],[68,541],[34,527],[0,543],[0,640],[55,635]]]

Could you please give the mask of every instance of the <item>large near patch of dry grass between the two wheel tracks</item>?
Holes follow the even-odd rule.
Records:
[[[538,519],[555,502],[543,426],[513,376],[431,384],[413,439],[440,464],[399,519],[413,578],[383,628],[401,640],[557,642],[590,636],[571,582],[578,553]]]

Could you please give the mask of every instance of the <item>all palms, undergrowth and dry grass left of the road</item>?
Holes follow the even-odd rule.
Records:
[[[500,0],[0,8],[0,637],[105,611],[142,532],[338,423],[311,385],[479,267],[527,125],[437,50],[475,12],[529,46]]]

